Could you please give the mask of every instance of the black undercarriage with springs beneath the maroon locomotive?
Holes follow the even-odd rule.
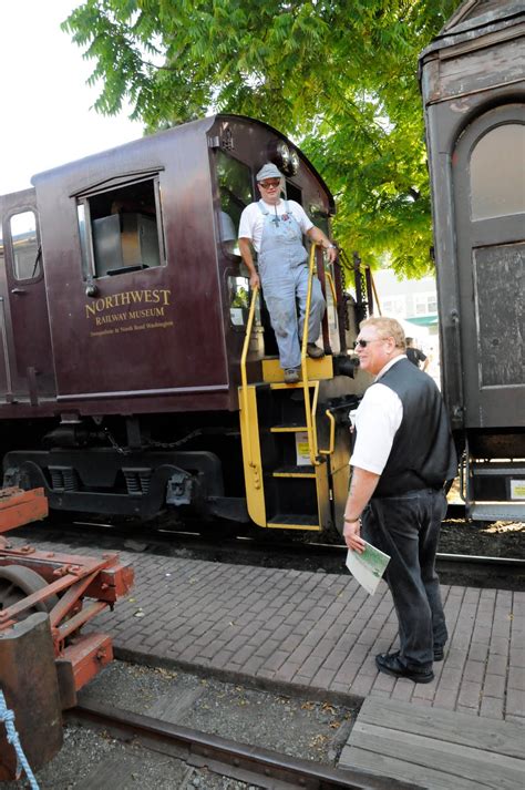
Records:
[[[43,488],[52,511],[144,521],[167,510],[182,519],[248,522],[246,500],[230,484],[241,478],[238,430],[208,425],[176,437],[172,427],[162,432],[171,441],[161,442],[152,439],[159,425],[137,418],[114,421],[111,431],[60,424],[43,437],[45,449],[7,453],[6,484]]]

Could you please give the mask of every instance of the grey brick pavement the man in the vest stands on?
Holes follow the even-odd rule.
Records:
[[[445,660],[431,684],[416,685],[375,668],[375,654],[397,637],[384,583],[369,596],[347,573],[121,557],[135,568],[135,588],[95,623],[123,656],[316,696],[383,696],[525,724],[525,593],[443,586]]]

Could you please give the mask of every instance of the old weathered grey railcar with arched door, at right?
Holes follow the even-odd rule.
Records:
[[[466,0],[422,52],[443,396],[473,521],[525,520],[525,3]]]

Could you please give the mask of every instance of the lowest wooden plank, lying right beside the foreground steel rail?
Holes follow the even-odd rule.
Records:
[[[402,759],[378,755],[375,751],[346,746],[341,752],[338,768],[358,768],[382,777],[391,777],[405,782],[413,782],[425,790],[482,790],[480,783],[470,779],[451,777],[432,768],[422,769]]]

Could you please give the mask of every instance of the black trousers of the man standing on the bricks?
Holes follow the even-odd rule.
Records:
[[[447,639],[435,554],[446,513],[443,491],[424,489],[372,499],[362,534],[390,555],[384,579],[399,622],[400,658],[411,668],[432,667],[433,648]]]

